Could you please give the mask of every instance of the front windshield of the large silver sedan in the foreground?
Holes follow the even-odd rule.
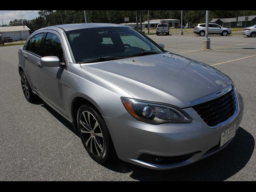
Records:
[[[145,52],[162,53],[154,43],[128,27],[86,28],[65,33],[76,63],[106,57],[140,56]]]

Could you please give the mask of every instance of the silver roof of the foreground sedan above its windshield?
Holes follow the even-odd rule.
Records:
[[[112,24],[112,23],[77,23],[77,24],[63,24],[63,25],[55,25],[43,28],[44,30],[52,29],[52,28],[61,28],[64,31],[76,30],[76,29],[85,29],[85,28],[98,28],[98,27],[127,27],[125,25],[120,24]]]

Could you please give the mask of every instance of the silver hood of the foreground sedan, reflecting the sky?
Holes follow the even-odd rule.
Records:
[[[134,98],[181,108],[232,84],[219,70],[170,52],[80,65]]]

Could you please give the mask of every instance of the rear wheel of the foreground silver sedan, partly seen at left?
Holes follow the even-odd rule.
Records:
[[[20,72],[20,82],[21,82],[22,92],[26,100],[30,103],[38,100],[38,96],[32,92],[30,84],[28,83],[26,74],[23,70]]]

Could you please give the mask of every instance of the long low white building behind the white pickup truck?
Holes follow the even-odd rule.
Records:
[[[179,19],[154,19],[149,20],[150,28],[156,27],[160,23],[166,23],[169,27],[179,27],[180,20]],[[132,28],[136,28],[136,23],[120,23],[121,25],[128,25]],[[139,29],[140,29],[140,22],[138,22]],[[148,28],[148,21],[142,22],[142,29]]]

